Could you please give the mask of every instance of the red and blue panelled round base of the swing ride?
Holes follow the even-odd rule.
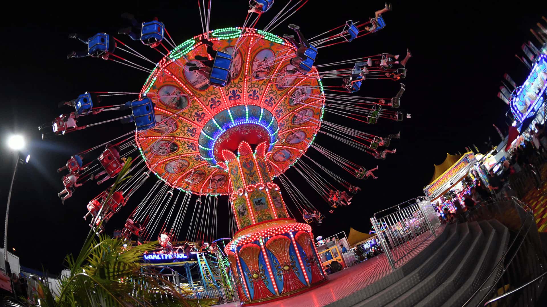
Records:
[[[327,281],[311,227],[292,219],[241,229],[226,255],[242,305],[287,298]]]

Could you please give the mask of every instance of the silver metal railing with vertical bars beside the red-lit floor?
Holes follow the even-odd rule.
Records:
[[[392,269],[431,236],[436,237],[435,231],[440,226],[435,209],[423,197],[376,212],[370,222]]]

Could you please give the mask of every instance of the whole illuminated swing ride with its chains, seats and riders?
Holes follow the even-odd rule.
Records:
[[[65,190],[59,193],[63,203],[75,188],[90,180],[103,184],[114,178],[126,158],[132,157],[131,178],[111,197],[106,189],[88,204],[86,217],[91,216],[90,226],[96,232],[103,230],[143,182],[152,180],[154,185],[146,196],[131,204],[135,209],[120,235],[144,241],[158,235],[159,253],[187,253],[190,247],[199,253],[204,242],[217,237],[222,209],[219,196],[228,196],[225,210],[233,238],[223,255],[243,304],[284,297],[325,281],[309,225],[321,222],[323,214],[295,184],[299,179],[290,179],[285,172],[294,167],[331,209],[349,205],[351,193],[360,188],[315,161],[312,151],[358,179],[374,175],[314,139],[320,132],[378,159],[395,153],[387,146],[399,134],[380,137],[346,127],[344,122],[354,120],[364,128],[365,123],[379,120],[403,120],[404,114],[393,108],[400,106],[404,85],[394,89],[393,93],[399,92],[393,98],[364,97],[358,92],[365,79],[391,82],[388,79],[404,78],[405,62],[411,55],[408,52],[402,65],[391,54],[316,65],[319,49],[351,44],[380,31],[386,25],[381,14],[391,10],[391,5],[369,21],[347,21],[308,39],[302,34],[307,29],[301,32],[292,24],[288,27],[296,39],[292,34],[279,37],[271,33],[306,2],[289,0],[264,29],[255,29],[262,14],[272,13],[274,1],[252,0],[242,27],[210,30],[211,1],[208,5],[198,1],[202,34],[182,44],[175,43],[164,23],[139,23],[128,14],[125,17],[133,26],[120,30],[118,37],[97,33],[81,39],[71,34],[87,49],[68,57],[102,58],[146,72],[148,78],[137,92],[85,92],[64,103],[73,107],[71,113],[40,127],[47,138],[104,122],[134,122],[136,126],[134,131],[75,154],[58,170],[67,172],[62,178]],[[159,61],[143,56],[137,51],[138,44],[125,43],[121,34],[158,51]],[[104,105],[105,101],[111,105]],[[121,115],[88,125],[79,123],[82,117],[88,120],[104,111]],[[307,223],[296,221],[282,190]],[[193,201],[192,195],[197,196]],[[173,244],[181,240],[193,244]]]

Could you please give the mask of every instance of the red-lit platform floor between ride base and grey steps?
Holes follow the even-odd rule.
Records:
[[[443,231],[444,226],[441,226],[437,233]],[[433,237],[430,237],[423,244],[412,250],[409,255],[401,259],[403,264],[408,259],[414,257],[418,252],[423,250],[424,247],[429,245],[433,241]],[[411,250],[415,246],[401,246],[403,249]],[[295,297],[287,299],[277,300],[275,302],[261,304],[264,307],[316,307],[325,306],[330,303],[336,302],[341,298],[351,295],[380,278],[391,273],[391,267],[385,254],[376,256],[374,258],[352,265],[351,267],[342,271],[329,275],[329,282],[319,286],[311,291],[302,293]],[[239,306],[239,302],[224,304],[221,306]]]

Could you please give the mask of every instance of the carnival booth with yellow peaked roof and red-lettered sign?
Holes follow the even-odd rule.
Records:
[[[444,208],[456,212],[454,202],[458,200],[462,208],[463,195],[470,194],[476,184],[488,185],[486,172],[475,159],[473,152],[463,155],[447,154],[443,163],[435,165],[435,173],[423,192],[438,213]]]

